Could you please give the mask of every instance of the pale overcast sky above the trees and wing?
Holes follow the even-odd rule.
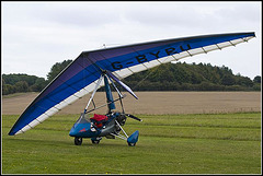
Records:
[[[256,38],[181,61],[261,75],[262,2],[1,1],[2,73],[43,77],[83,50],[195,35],[255,32]]]

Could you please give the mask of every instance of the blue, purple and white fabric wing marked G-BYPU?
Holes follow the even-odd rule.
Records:
[[[122,80],[161,63],[236,46],[253,37],[254,33],[203,35],[83,51],[28,105],[9,134],[25,132],[92,92],[101,70]]]

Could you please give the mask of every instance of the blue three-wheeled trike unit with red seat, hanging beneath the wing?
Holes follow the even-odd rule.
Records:
[[[104,80],[105,84],[105,92],[106,92],[106,104],[101,105],[99,107],[95,106],[95,103],[93,102],[94,94],[101,84],[102,80]],[[112,82],[114,89],[118,93],[118,98],[113,99],[111,86],[108,84],[108,80]],[[128,145],[134,146],[136,142],[138,141],[139,131],[135,131],[132,136],[127,136],[127,133],[124,131],[122,126],[125,125],[126,118],[130,117],[133,119],[136,119],[138,121],[142,121],[138,117],[135,117],[130,114],[125,114],[122,98],[125,97],[125,94],[123,95],[121,91],[117,89],[113,80],[117,83],[119,83],[126,91],[128,91],[135,98],[138,98],[135,93],[121,80],[118,80],[113,73],[110,71],[102,71],[102,74],[96,82],[95,89],[88,102],[88,105],[84,109],[84,112],[81,114],[80,118],[77,120],[77,122],[71,128],[69,136],[75,137],[75,144],[80,145],[82,143],[82,138],[91,138],[92,143],[99,144],[102,137],[108,138],[108,139],[115,139],[115,137],[119,139],[124,139],[127,141]],[[122,113],[121,112],[113,112],[115,109],[115,102],[119,101],[122,105]],[[88,110],[89,105],[93,103],[93,108]],[[107,105],[107,114],[106,115],[98,115],[94,114],[94,117],[88,118],[85,117],[87,114]],[[121,131],[123,131],[123,134],[121,134]]]

